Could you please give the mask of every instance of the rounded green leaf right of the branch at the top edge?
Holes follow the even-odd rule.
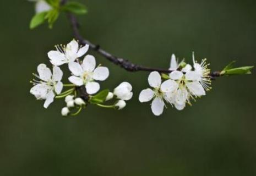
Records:
[[[67,4],[62,6],[62,10],[78,15],[87,13],[85,5],[78,2],[68,2]]]

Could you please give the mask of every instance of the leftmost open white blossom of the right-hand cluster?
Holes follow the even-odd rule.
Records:
[[[153,89],[145,89],[140,92],[139,101],[148,102],[152,99],[151,110],[155,116],[160,116],[164,111],[165,102],[168,101],[168,92],[173,92],[177,89],[178,84],[173,80],[161,81],[161,75],[158,72],[151,72],[148,78],[149,85]]]

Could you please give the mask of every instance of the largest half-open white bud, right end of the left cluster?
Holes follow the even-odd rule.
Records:
[[[116,87],[113,94],[116,95],[117,98],[120,100],[128,101],[133,97],[132,89],[133,87],[132,85],[130,85],[130,83],[123,82]]]

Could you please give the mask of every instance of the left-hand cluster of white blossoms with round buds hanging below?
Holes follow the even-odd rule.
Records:
[[[123,82],[113,92],[108,90],[99,92],[100,84],[98,82],[105,81],[110,72],[107,67],[97,66],[96,59],[92,55],[86,55],[81,61],[80,58],[88,50],[89,45],[79,46],[77,41],[72,40],[67,46],[57,45],[56,50],[48,52],[48,58],[53,65],[52,72],[46,64],[39,64],[38,74],[33,74],[37,80],[31,81],[34,86],[30,90],[37,100],[45,100],[43,107],[48,108],[55,98],[65,98],[67,106],[62,109],[62,115],[75,116],[89,104],[116,109],[123,109],[126,106],[126,101],[133,96],[132,85]],[[72,84],[62,83],[63,72],[60,67],[65,64],[70,70],[71,75],[68,80]],[[71,89],[62,91],[63,87]],[[81,92],[79,89],[85,91]],[[97,92],[99,93],[96,94]],[[113,105],[102,104],[113,98],[116,99]],[[77,109],[77,112],[71,113],[73,109]]]

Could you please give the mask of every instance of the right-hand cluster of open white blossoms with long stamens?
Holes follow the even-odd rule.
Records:
[[[208,69],[206,59],[199,64],[195,61],[193,53],[193,68],[190,64],[184,62],[178,63],[175,55],[172,55],[170,74],[160,75],[158,72],[151,72],[148,78],[151,89],[145,89],[140,92],[139,101],[151,103],[151,110],[155,116],[160,116],[165,102],[170,103],[178,110],[191,105],[191,100],[204,96],[205,91],[210,90],[210,69]],[[166,79],[162,82],[162,78]]]

